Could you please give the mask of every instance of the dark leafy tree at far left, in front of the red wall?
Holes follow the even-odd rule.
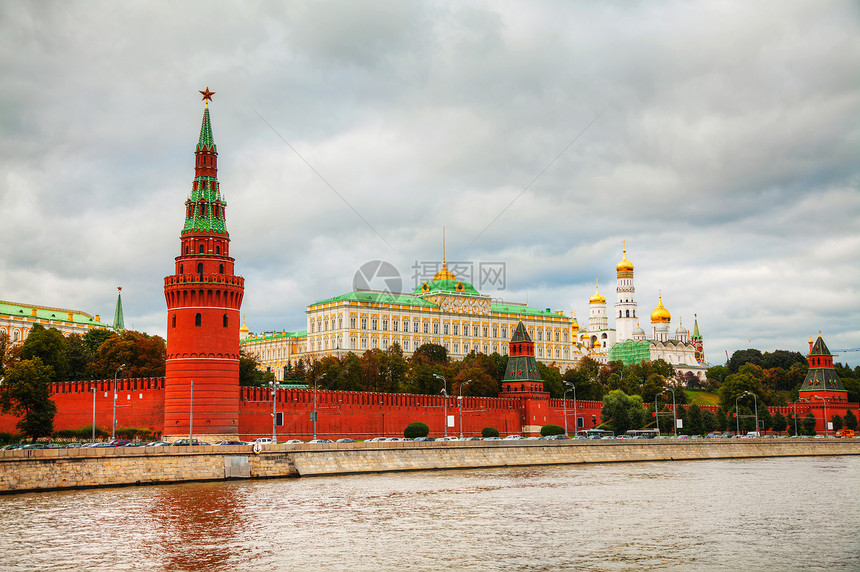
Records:
[[[52,368],[34,357],[6,368],[6,377],[0,385],[0,411],[18,416],[15,427],[33,442],[54,431],[57,405],[51,399],[53,379]]]

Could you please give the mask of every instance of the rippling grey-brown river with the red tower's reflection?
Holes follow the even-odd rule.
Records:
[[[21,570],[860,570],[860,457],[230,481],[0,497]]]

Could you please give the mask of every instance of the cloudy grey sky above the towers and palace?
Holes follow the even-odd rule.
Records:
[[[860,347],[856,2],[10,0],[0,47],[0,299],[164,335],[209,86],[252,331],[446,226],[581,322],[628,241],[713,364]]]

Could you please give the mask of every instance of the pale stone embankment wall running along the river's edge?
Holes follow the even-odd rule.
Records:
[[[0,451],[0,493],[528,465],[860,455],[860,439],[437,441]]]

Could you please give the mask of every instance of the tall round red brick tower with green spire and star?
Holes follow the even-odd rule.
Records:
[[[200,93],[207,103],[194,152],[194,182],[185,201],[174,274],[164,279],[164,435],[187,437],[193,432],[195,437],[235,438],[239,433],[239,309],[245,281],[233,274],[230,257],[227,203],[218,186],[218,153],[209,122],[213,92],[207,87]]]

